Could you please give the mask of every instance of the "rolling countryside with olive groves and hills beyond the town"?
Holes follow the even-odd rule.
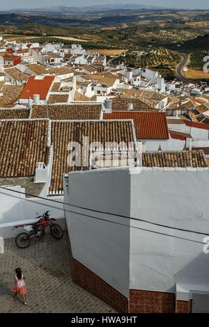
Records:
[[[162,10],[140,6],[53,7],[0,12],[0,33],[27,42],[77,41],[98,50],[115,64],[149,66],[163,77],[176,77],[187,56],[188,79],[208,79],[203,58],[209,53],[209,11]]]

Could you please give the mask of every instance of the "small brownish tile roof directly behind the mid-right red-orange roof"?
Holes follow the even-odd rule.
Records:
[[[158,111],[141,99],[114,97],[112,99],[112,111],[127,111],[128,104],[133,104],[134,111]]]

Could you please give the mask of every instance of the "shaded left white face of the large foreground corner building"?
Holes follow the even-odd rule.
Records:
[[[126,172],[72,173],[69,198],[65,202],[100,211],[128,215],[130,212],[130,177]],[[114,200],[113,200],[114,199]],[[92,212],[65,206],[74,212]],[[123,225],[99,221],[88,216],[65,212],[72,246],[72,256],[109,285],[128,297],[130,231]],[[93,213],[93,216],[127,224],[125,218]]]

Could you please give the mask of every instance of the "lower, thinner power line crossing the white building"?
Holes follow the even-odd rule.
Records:
[[[12,198],[17,198],[17,199],[20,199],[20,200],[26,200],[28,202],[33,202],[35,203],[36,205],[43,205],[42,203],[40,202],[36,202],[34,200],[29,200],[29,199],[26,199],[26,198],[18,198],[17,196],[13,196],[12,194],[8,194],[8,193],[3,193],[0,191],[1,194],[4,194],[4,195],[7,195],[7,196],[10,196]],[[61,202],[60,202],[61,203]],[[59,209],[59,210],[63,210],[61,208],[58,208],[58,207],[54,207],[52,205],[48,205],[48,207],[50,208],[53,208],[53,209]],[[70,212],[71,214],[80,214],[82,216],[85,216],[85,217],[88,217],[88,218],[93,218],[93,219],[96,219],[98,221],[105,221],[105,222],[108,222],[108,223],[114,223],[115,225],[121,225],[121,226],[124,226],[124,227],[128,227],[128,228],[134,228],[136,230],[142,230],[142,231],[145,231],[145,232],[152,232],[154,234],[160,234],[160,235],[164,235],[164,236],[167,236],[167,237],[173,237],[175,239],[183,239],[185,241],[192,241],[194,243],[197,243],[197,244],[202,244],[202,245],[206,245],[206,243],[203,243],[201,241],[195,241],[194,239],[186,239],[185,237],[178,237],[176,235],[171,235],[171,234],[165,234],[165,233],[162,233],[162,232],[157,232],[156,230],[148,230],[146,228],[139,228],[139,227],[135,227],[135,226],[132,226],[132,225],[126,225],[124,223],[118,223],[116,221],[109,221],[107,219],[104,219],[104,218],[98,218],[98,217],[93,217],[93,216],[90,216],[88,214],[82,214],[81,212],[73,212],[72,210],[68,210],[68,209],[64,209],[65,212]],[[208,234],[206,234],[207,236],[209,236]]]

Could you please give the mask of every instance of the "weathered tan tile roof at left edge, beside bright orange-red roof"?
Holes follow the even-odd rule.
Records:
[[[13,106],[15,102],[19,99],[20,94],[22,93],[24,86],[22,85],[4,85],[1,89],[3,97],[0,97],[0,106]]]

